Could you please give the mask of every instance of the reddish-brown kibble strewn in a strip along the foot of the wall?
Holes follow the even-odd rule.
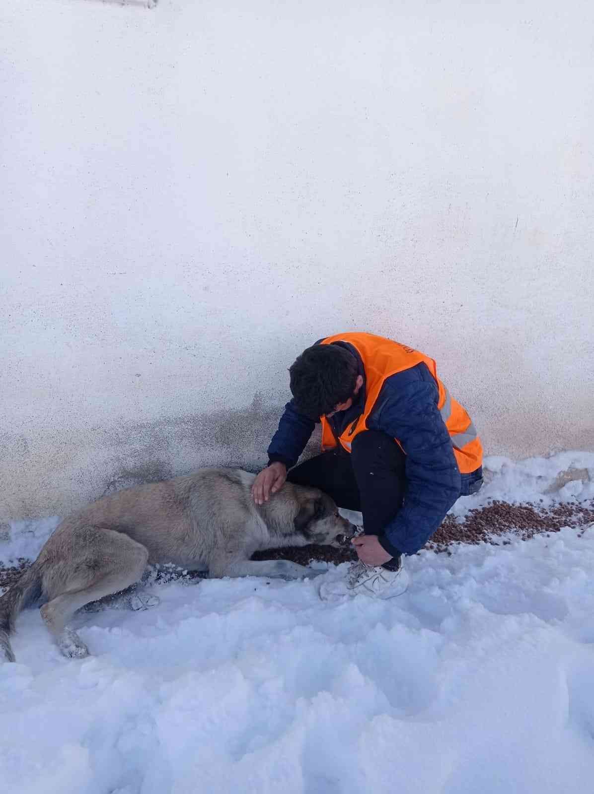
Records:
[[[542,507],[533,502],[511,504],[493,499],[485,507],[471,510],[464,519],[447,515],[442,526],[427,543],[426,549],[435,553],[451,553],[457,543],[503,543],[510,542],[505,536],[515,535],[522,540],[536,534],[558,532],[564,526],[576,528],[578,537],[591,526],[594,531],[594,500],[581,503],[563,503],[554,507]],[[503,536],[503,537],[502,537]],[[301,549],[268,549],[253,555],[253,560],[291,560],[300,565],[311,561],[349,562],[355,559],[353,547],[345,542],[340,548],[309,545]],[[30,561],[19,560],[17,565],[2,567],[0,562],[0,589],[8,588],[29,568]],[[166,583],[172,580],[193,580],[204,574],[174,570],[175,566],[160,565],[152,572],[151,580]]]

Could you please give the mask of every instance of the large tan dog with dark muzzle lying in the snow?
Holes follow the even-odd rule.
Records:
[[[253,561],[256,551],[310,543],[341,545],[357,530],[330,496],[285,483],[254,503],[255,475],[203,468],[165,482],[127,488],[65,518],[39,557],[0,598],[0,657],[15,661],[10,631],[21,609],[42,601],[41,616],[66,657],[87,646],[68,622],[87,603],[129,588],[147,565],[173,563],[209,576],[278,576],[315,572],[288,560]]]

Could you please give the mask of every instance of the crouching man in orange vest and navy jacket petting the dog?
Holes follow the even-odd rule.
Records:
[[[321,339],[289,372],[293,399],[253,499],[262,504],[288,479],[361,511],[365,530],[353,539],[358,561],[346,591],[398,595],[403,554],[419,551],[457,498],[483,483],[469,414],[439,380],[433,359],[371,333]],[[322,454],[295,466],[316,422]]]

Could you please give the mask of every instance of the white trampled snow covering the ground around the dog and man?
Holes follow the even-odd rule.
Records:
[[[471,506],[592,498],[592,455],[489,465]],[[547,495],[572,467],[590,480]],[[51,526],[13,527],[0,558],[36,553]],[[344,565],[154,585],[155,609],[79,616],[83,661],[25,612],[18,662],[0,665],[2,791],[592,790],[594,527],[407,562],[387,602],[322,603]]]

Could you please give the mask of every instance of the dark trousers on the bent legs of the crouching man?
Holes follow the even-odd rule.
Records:
[[[291,468],[287,480],[331,496],[338,507],[363,514],[365,534],[378,535],[403,504],[406,456],[380,430],[358,434],[351,452],[341,446]]]

